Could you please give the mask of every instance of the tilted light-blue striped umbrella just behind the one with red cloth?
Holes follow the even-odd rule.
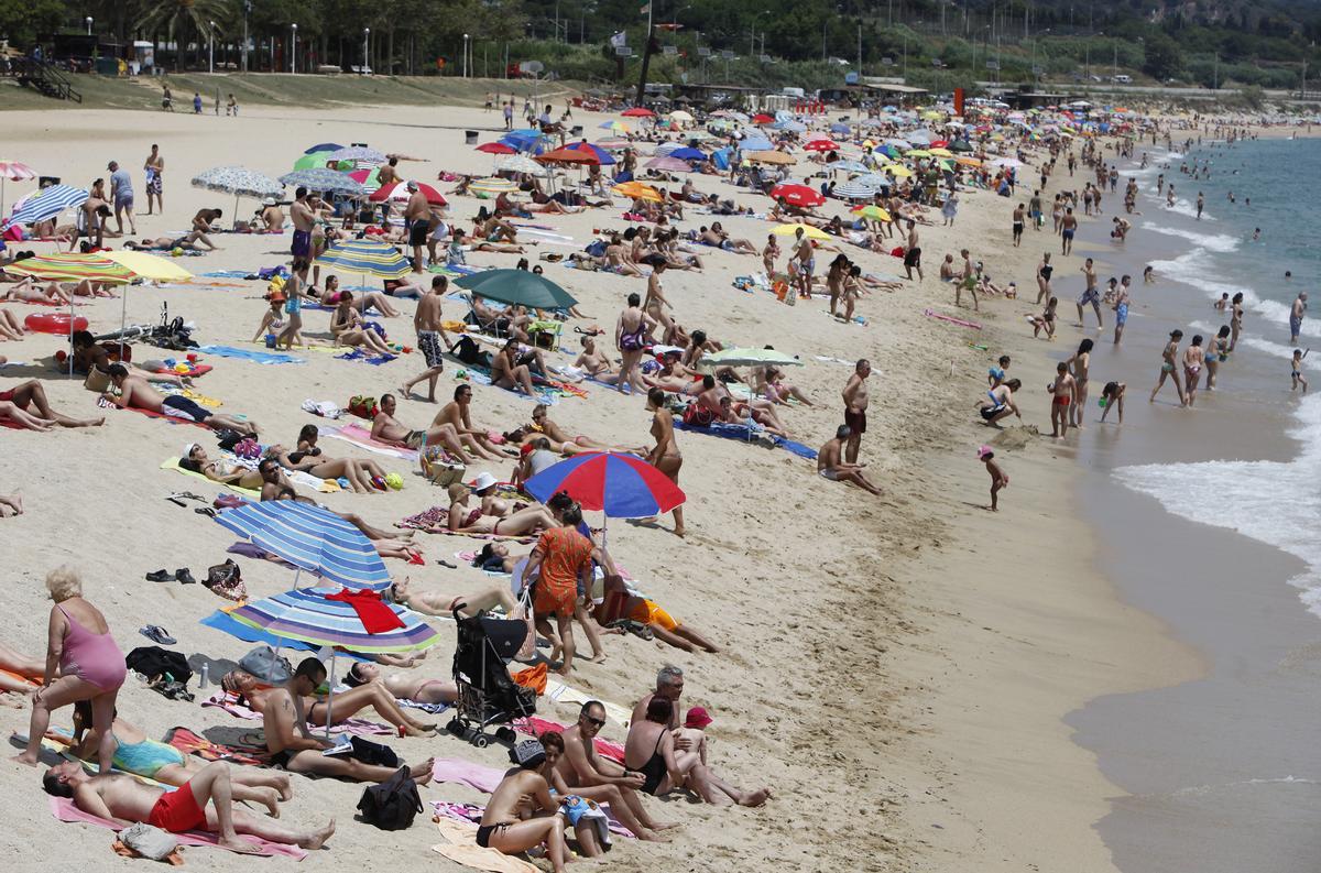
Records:
[[[390,573],[371,541],[329,510],[295,501],[271,501],[225,510],[215,520],[328,581],[351,589],[390,588]]]

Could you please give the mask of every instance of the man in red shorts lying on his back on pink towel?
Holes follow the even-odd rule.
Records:
[[[172,791],[118,773],[92,777],[77,761],[65,761],[46,770],[42,785],[48,794],[71,798],[79,810],[102,819],[145,821],[170,833],[210,831],[219,833],[221,845],[244,855],[258,853],[259,847],[239,837],[239,833],[304,849],[320,849],[334,833],[334,819],[318,831],[297,831],[276,819],[235,810],[230,766],[221,761],[206,765],[181,788]],[[209,810],[207,803],[214,808]]]

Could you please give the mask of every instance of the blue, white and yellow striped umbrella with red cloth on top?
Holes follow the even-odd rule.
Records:
[[[365,654],[420,651],[440,642],[436,630],[416,613],[380,601],[376,601],[379,608],[395,615],[390,623],[396,623],[380,633],[369,631],[351,602],[333,600],[342,597],[341,590],[306,588],[284,592],[244,604],[231,610],[230,617],[283,639]]]

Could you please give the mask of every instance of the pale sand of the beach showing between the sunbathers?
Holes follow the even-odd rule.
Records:
[[[575,123],[588,131],[609,118],[576,116]],[[231,197],[188,186],[189,178],[211,166],[242,164],[279,176],[308,145],[333,140],[427,158],[403,164],[404,176],[435,181],[443,169],[489,170],[490,157],[466,147],[462,131],[480,129],[486,141],[499,127],[495,114],[473,107],[410,107],[407,112],[357,106],[320,112],[244,107],[238,119],[95,110],[7,112],[3,118],[9,125],[7,157],[79,185],[104,176],[108,160],[129,168],[140,185],[141,161],[148,147],[159,143],[166,161],[165,214],[137,218],[139,235],[152,236],[186,228],[201,207],[223,209],[229,222]],[[1082,177],[1082,169],[1077,180],[1057,176],[1048,193],[1069,181],[1081,188]],[[697,176],[695,184],[723,195],[733,192],[717,177]],[[17,186],[9,192],[13,197]],[[753,199],[746,192],[732,195],[740,202]],[[760,268],[753,256],[711,251],[707,258],[704,251],[703,272],[666,273],[676,318],[688,329],[704,328],[727,345],[773,345],[802,358],[806,366],[789,376],[814,405],[786,415],[794,437],[812,448],[838,424],[839,392],[851,372],[847,362],[860,357],[873,362],[863,460],[885,497],[827,482],[812,462],[787,452],[679,433],[688,538],[674,538],[668,518],[659,526],[612,523],[616,557],[649,594],[675,617],[709,631],[724,651],[686,655],[633,637],[608,637],[605,662],[580,663],[569,684],[631,707],[650,689],[659,667],[680,664],[687,672],[684,700],[715,716],[708,736],[716,769],[736,785],[766,785],[777,795],[761,810],[653,803],[657,815],[680,821],[682,829],[668,844],[617,844],[609,856],[613,866],[1115,869],[1094,825],[1107,815],[1107,800],[1122,791],[1096,769],[1092,753],[1074,744],[1063,717],[1102,695],[1188,680],[1203,664],[1157,619],[1123,602],[1098,571],[1099,548],[1075,502],[1075,485],[1086,471],[1075,464],[1073,444],[1049,438],[1049,398],[1041,386],[1052,378],[1055,362],[1073,351],[1077,337],[1067,330],[1054,343],[1033,341],[1022,314],[1037,309],[1032,305],[1036,260],[1044,250],[1055,251],[1058,242],[1049,231],[1029,230],[1025,244],[1011,248],[1008,201],[988,192],[964,193],[960,199],[955,227],[939,227],[937,213],[935,226],[921,227],[926,280],[865,297],[859,313],[867,325],[830,318],[822,301],[790,308],[770,295],[736,289],[734,276]],[[1116,199],[1111,197],[1112,206]],[[240,214],[255,206],[244,201]],[[477,206],[472,198],[452,198],[450,214],[462,221]],[[828,214],[834,211],[843,209]],[[622,230],[626,225],[618,213],[618,207],[589,210],[544,222],[538,217],[536,223],[553,225],[572,243],[543,243],[527,256],[535,259],[546,250],[567,255],[581,248],[593,228]],[[692,213],[680,227],[708,221]],[[769,230],[753,218],[721,221],[733,236],[758,246]],[[288,260],[288,234],[225,234],[217,243],[221,251],[181,264],[202,273],[255,271]],[[972,248],[974,260],[983,260],[997,283],[1012,279],[1022,289],[1017,301],[983,300],[976,314],[958,312],[958,317],[979,321],[980,330],[923,316],[927,308],[956,312],[952,287],[939,283],[935,272],[943,255],[958,256],[962,246]],[[868,269],[902,272],[897,259],[856,247],[845,251]],[[1102,251],[1081,242],[1073,256],[1057,256],[1058,273],[1073,279],[1082,258]],[[511,255],[469,256],[477,265],[513,267],[515,260]],[[588,313],[587,321],[575,324],[606,332],[613,330],[624,296],[645,291],[639,279],[560,264],[546,264],[546,272]],[[355,277],[341,277],[358,284]],[[225,287],[128,288],[128,321],[153,322],[168,302],[172,317],[197,324],[202,342],[242,345],[266,308],[264,284],[223,281]],[[1066,295],[1061,293],[1062,312],[1067,306],[1066,321],[1071,321]],[[36,310],[12,309],[20,317]],[[412,304],[406,301],[403,310],[399,318],[386,320],[386,328],[392,338],[411,345]],[[118,328],[120,301],[95,301],[78,313],[90,318],[92,332],[108,332]],[[446,317],[460,316],[458,305],[446,302]],[[305,333],[324,342],[328,321],[329,313],[306,313]],[[57,409],[94,415],[94,395],[50,368],[49,358],[61,347],[58,338],[40,334],[0,346],[11,361],[25,362],[0,370],[0,390],[18,378],[37,376]],[[1012,375],[1024,382],[1025,423],[996,435],[975,423],[972,407],[985,394],[987,368],[1000,354],[1012,355]],[[271,367],[210,358],[215,370],[199,390],[222,400],[221,411],[260,423],[264,438],[289,444],[301,425],[316,421],[300,409],[305,399],[343,405],[350,395],[394,391],[423,368],[416,353],[380,367],[317,351],[301,357],[308,362]],[[448,400],[454,384],[449,368],[437,394]],[[421,427],[435,409],[413,399],[400,404],[398,417]],[[524,423],[530,409],[526,399],[480,387],[473,417],[509,429]],[[590,386],[585,400],[561,399],[550,412],[563,425],[598,440],[647,444],[649,413],[641,399],[601,386]],[[213,662],[236,660],[247,645],[197,623],[223,601],[202,586],[143,578],[157,568],[182,567],[201,576],[229,556],[225,549],[232,535],[162,499],[173,490],[207,498],[219,493],[214,485],[160,469],[197,435],[131,412],[106,415],[106,425],[96,429],[4,432],[0,493],[21,491],[26,512],[0,522],[13,567],[12,609],[21,617],[3,642],[34,655],[42,651],[48,610],[42,580],[50,568],[69,563],[82,571],[89,598],[104,610],[125,651],[149,645],[137,635],[139,627],[160,625],[178,639],[180,651]],[[1091,427],[1085,438],[1094,437]],[[975,457],[982,442],[996,448],[1012,478],[1001,493],[999,514],[985,510],[987,474]],[[326,449],[336,456],[359,454],[347,444]],[[318,498],[337,510],[351,508],[378,527],[445,502],[440,489],[404,462],[375,460],[404,475],[402,491]],[[510,471],[509,465],[491,464],[470,466],[468,474],[483,469],[497,478]],[[490,584],[461,561],[456,561],[458,569],[436,564],[480,548],[480,541],[420,539],[427,565],[388,561],[394,575],[456,596]],[[254,597],[284,590],[292,581],[283,568],[236,560]],[[454,633],[448,621],[435,623],[444,642],[415,670],[445,678]],[[132,678],[120,692],[119,708],[149,736],[185,725],[223,741],[258,726],[217,709],[166,701]],[[576,707],[543,699],[539,715],[571,722]],[[54,724],[67,725],[67,712],[57,713]],[[26,712],[0,711],[0,728],[26,730]],[[604,734],[622,740],[624,729],[609,724]],[[478,750],[445,734],[391,740],[391,745],[408,761],[437,755],[506,763],[499,746]],[[0,815],[9,823],[7,844],[30,845],[58,835],[61,857],[67,861],[92,869],[131,864],[112,861],[102,829],[75,824],[53,829],[36,771],[5,765],[0,781],[7,788],[0,798]],[[310,825],[336,816],[339,824],[329,851],[313,853],[304,868],[388,862],[402,869],[458,869],[429,851],[439,841],[429,810],[411,831],[387,833],[353,821],[361,786],[297,777],[295,788],[284,818]],[[423,798],[482,800],[454,785],[428,786]],[[189,857],[217,870],[255,864],[213,849],[189,849]]]

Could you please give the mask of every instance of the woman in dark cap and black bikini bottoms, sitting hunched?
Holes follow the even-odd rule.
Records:
[[[564,873],[569,849],[564,843],[564,819],[560,804],[551,796],[550,783],[539,770],[546,763],[546,749],[538,740],[523,740],[510,751],[518,765],[491,792],[477,825],[477,845],[503,855],[519,855],[546,845],[553,873]],[[522,810],[531,807],[546,815],[522,819]]]

